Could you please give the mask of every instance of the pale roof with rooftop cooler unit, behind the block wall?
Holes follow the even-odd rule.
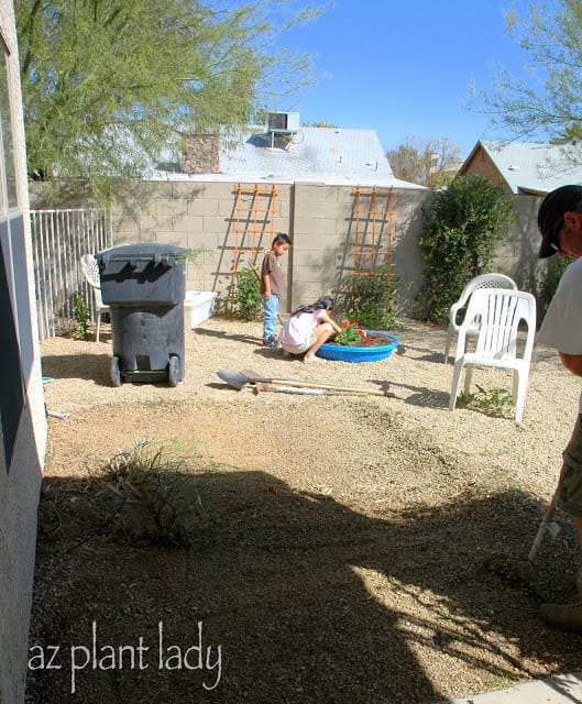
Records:
[[[289,134],[273,134],[264,125],[249,125],[221,138],[218,174],[156,169],[153,178],[422,188],[394,176],[374,130],[340,128],[300,127]]]

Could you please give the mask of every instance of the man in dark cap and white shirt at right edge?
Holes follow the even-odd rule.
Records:
[[[551,299],[537,341],[558,350],[567,370],[582,376],[582,186],[561,186],[546,196],[538,211],[540,258],[571,256]],[[582,548],[582,395],[572,438],[563,451],[558,506],[573,516]],[[542,604],[541,617],[562,630],[582,634],[582,574],[574,604]]]

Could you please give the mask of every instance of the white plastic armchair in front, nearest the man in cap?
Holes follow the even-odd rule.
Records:
[[[474,352],[466,352],[466,336],[475,317],[480,328]],[[520,322],[527,326],[525,341],[518,342]],[[454,410],[461,372],[465,367],[464,393],[471,388],[475,366],[513,370],[512,394],[515,403],[515,421],[520,422],[526,400],[529,364],[536,334],[536,299],[525,290],[480,288],[469,299],[466,315],[459,328],[457,354],[452,375],[449,410]],[[523,348],[518,350],[519,348]]]

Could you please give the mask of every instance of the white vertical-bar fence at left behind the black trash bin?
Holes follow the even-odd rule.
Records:
[[[79,292],[95,322],[92,294],[80,257],[112,245],[110,211],[31,210],[31,230],[41,340],[75,328],[74,297]]]

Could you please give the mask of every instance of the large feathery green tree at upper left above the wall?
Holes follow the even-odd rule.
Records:
[[[303,0],[15,0],[29,173],[134,176],[180,133],[248,122],[310,59],[276,48]],[[273,98],[273,94],[271,94]],[[167,157],[166,157],[167,158]]]

